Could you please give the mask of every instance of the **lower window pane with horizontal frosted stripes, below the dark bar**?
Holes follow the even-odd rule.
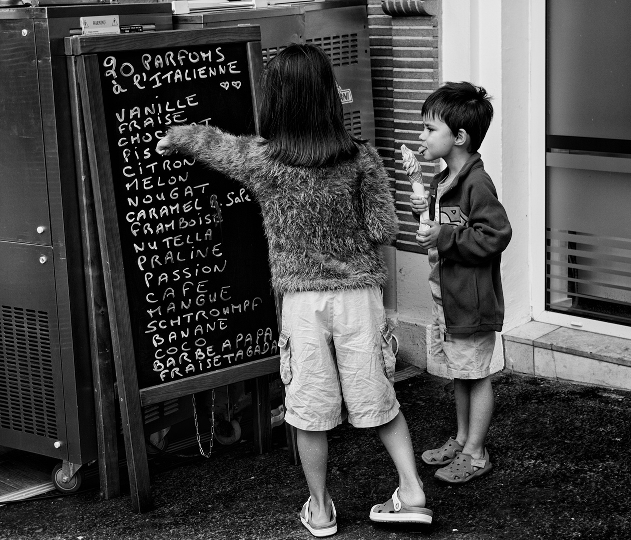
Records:
[[[629,172],[572,168],[586,162]],[[631,326],[631,159],[551,153],[550,163],[561,166],[547,167],[546,308]]]

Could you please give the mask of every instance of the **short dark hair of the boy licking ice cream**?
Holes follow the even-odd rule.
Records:
[[[493,119],[491,99],[481,86],[447,82],[425,100],[421,114],[445,122],[454,136],[464,129],[471,139],[467,151],[472,154],[480,148]]]

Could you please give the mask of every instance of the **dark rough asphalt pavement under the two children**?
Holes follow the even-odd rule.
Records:
[[[345,423],[329,432],[334,538],[631,538],[631,393],[507,372],[492,377],[494,468],[462,486],[434,479],[420,459],[455,434],[452,385],[427,373],[396,383],[432,525],[371,522],[370,507],[397,486],[394,466],[374,429]],[[307,486],[301,467],[289,464],[284,433],[274,428],[273,450],[264,455],[254,454],[244,428],[244,440],[216,445],[209,459],[152,459],[155,509],[144,514],[133,512],[129,493],[103,500],[96,474],[74,495],[0,507],[0,540],[308,540],[298,517]]]

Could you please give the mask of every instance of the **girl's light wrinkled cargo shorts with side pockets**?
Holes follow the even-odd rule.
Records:
[[[285,383],[285,420],[306,431],[391,421],[394,393],[392,332],[377,287],[287,293],[278,341]]]

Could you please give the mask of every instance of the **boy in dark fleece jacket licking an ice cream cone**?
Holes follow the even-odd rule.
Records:
[[[430,228],[416,233],[428,250],[432,290],[432,352],[444,352],[454,377],[457,434],[422,459],[444,466],[435,478],[464,483],[492,469],[484,445],[493,414],[490,362],[495,332],[504,322],[501,253],[512,230],[478,148],[493,118],[486,90],[471,83],[444,83],[422,107],[419,153],[442,158],[447,168],[433,177],[425,199],[411,195],[420,213],[429,206]],[[408,174],[419,170],[404,160]]]

